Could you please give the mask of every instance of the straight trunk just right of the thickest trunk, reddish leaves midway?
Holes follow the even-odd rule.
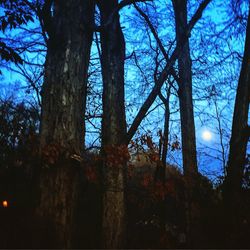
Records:
[[[101,23],[107,23],[117,0],[100,1]],[[104,194],[102,246],[121,248],[125,241],[125,169],[127,161],[124,106],[125,41],[118,14],[101,32],[103,76],[102,152]]]

